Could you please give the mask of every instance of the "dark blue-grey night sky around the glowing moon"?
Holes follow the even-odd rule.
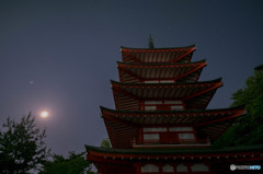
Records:
[[[0,124],[32,112],[55,153],[107,137],[100,105],[115,108],[121,46],[196,44],[201,80],[222,78],[208,108],[228,107],[263,63],[263,1],[0,1]],[[39,117],[47,109],[50,116]]]

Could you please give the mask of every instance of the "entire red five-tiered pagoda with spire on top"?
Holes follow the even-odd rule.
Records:
[[[245,111],[206,109],[222,82],[198,81],[206,61],[191,61],[195,49],[153,48],[151,40],[121,48],[119,82],[111,81],[116,109],[101,107],[113,148],[85,146],[101,174],[214,173],[263,160],[259,147],[210,147]]]

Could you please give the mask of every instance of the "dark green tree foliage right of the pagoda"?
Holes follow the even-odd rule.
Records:
[[[263,70],[255,69],[245,85],[232,94],[231,106],[245,105],[248,114],[238,118],[215,142],[217,147],[263,143]]]

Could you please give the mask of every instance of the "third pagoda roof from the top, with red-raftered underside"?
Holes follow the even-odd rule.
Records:
[[[221,78],[213,81],[187,83],[123,83],[111,81],[117,109],[139,111],[140,102],[181,100],[186,108],[204,109],[216,90],[222,85]]]

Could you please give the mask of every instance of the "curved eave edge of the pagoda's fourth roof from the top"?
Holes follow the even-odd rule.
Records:
[[[130,126],[155,125],[191,125],[194,127],[207,127],[211,124],[227,121],[244,115],[242,107],[207,109],[207,111],[155,111],[132,112],[114,111],[101,107],[102,117],[112,121],[119,121]],[[229,126],[229,125],[226,125]]]

